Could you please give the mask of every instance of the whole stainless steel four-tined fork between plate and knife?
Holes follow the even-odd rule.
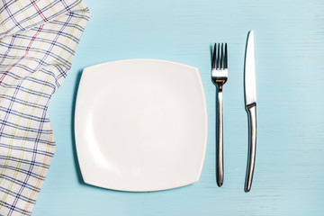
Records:
[[[217,49],[217,55],[216,55]],[[225,43],[225,53],[223,52],[223,43],[215,43],[212,63],[211,63],[211,80],[217,86],[217,139],[216,139],[216,179],[217,184],[221,186],[224,181],[224,164],[223,164],[223,100],[222,86],[228,79],[228,52],[227,43]]]

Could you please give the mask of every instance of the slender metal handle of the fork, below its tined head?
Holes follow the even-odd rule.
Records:
[[[217,96],[217,137],[216,137],[216,179],[217,184],[221,186],[224,181],[224,164],[223,164],[223,98],[222,87],[218,87]]]

